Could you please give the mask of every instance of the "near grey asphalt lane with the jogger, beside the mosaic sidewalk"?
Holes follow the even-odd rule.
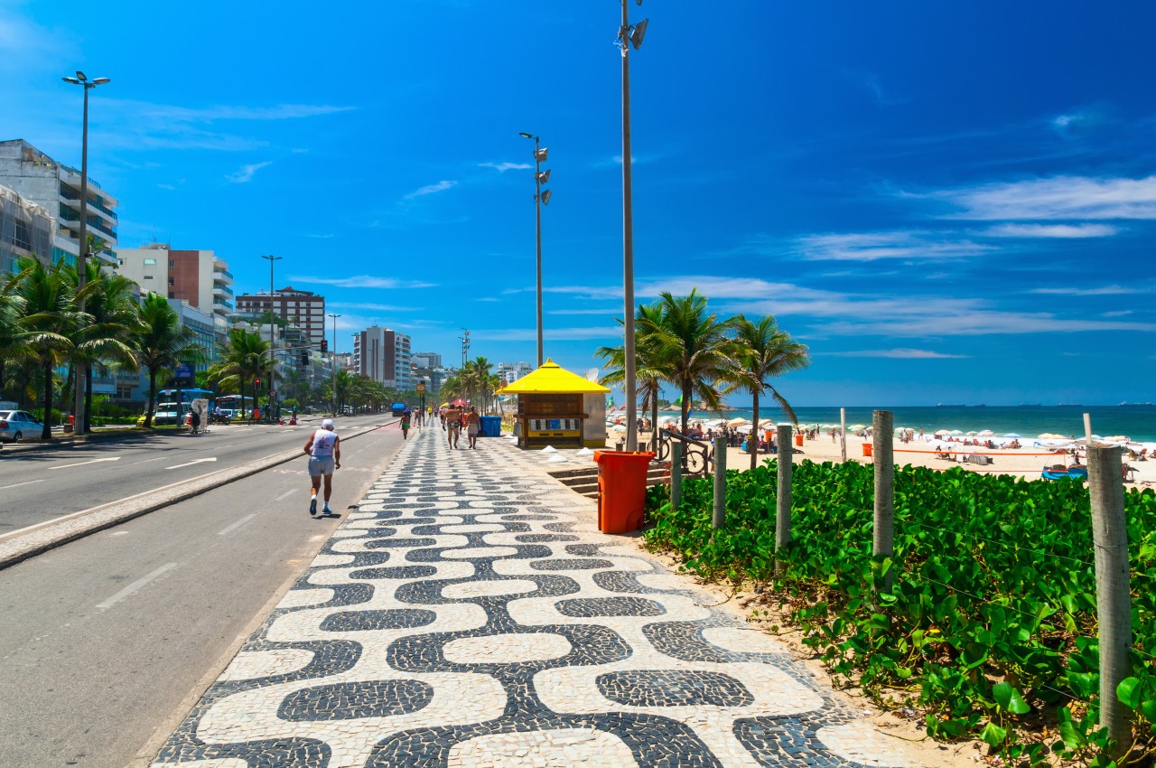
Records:
[[[283,448],[247,437],[250,457]],[[173,464],[212,450],[173,442]],[[400,446],[395,423],[342,443],[334,510],[358,501]],[[96,451],[118,452],[125,466],[142,456]],[[155,475],[157,464],[168,466],[154,463]],[[307,487],[304,463],[284,464],[0,571],[0,765],[147,766],[340,524],[309,516]]]

